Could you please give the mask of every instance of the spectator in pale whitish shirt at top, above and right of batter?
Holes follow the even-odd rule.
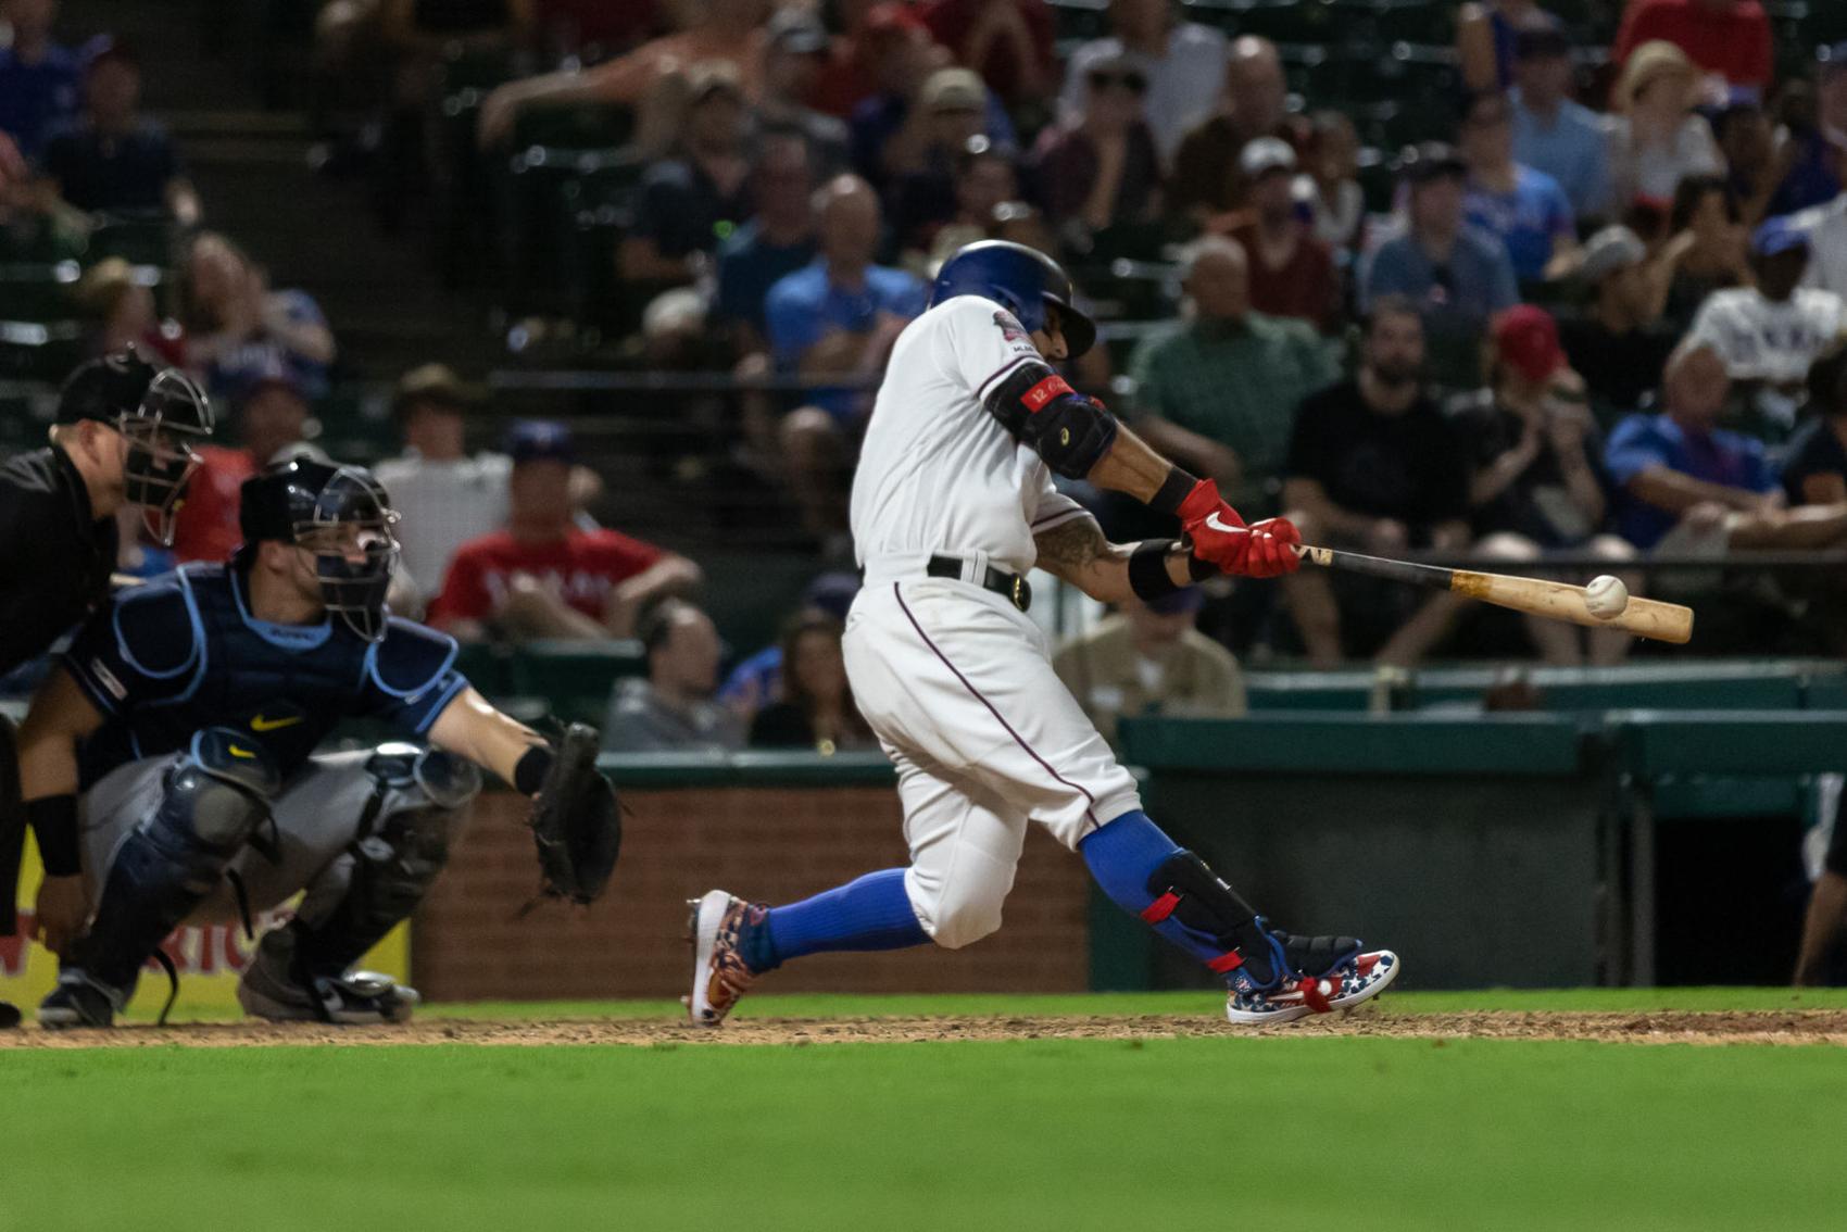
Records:
[[[1082,115],[1090,68],[1127,63],[1149,83],[1143,111],[1162,159],[1171,159],[1186,131],[1212,115],[1225,91],[1225,35],[1175,17],[1167,0],[1110,0],[1110,35],[1071,52],[1060,109]]]

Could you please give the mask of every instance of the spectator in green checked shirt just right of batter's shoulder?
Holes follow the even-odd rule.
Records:
[[[1223,236],[1180,257],[1191,320],[1145,338],[1129,360],[1134,427],[1186,469],[1215,478],[1247,512],[1276,510],[1297,403],[1335,379],[1304,321],[1250,310],[1249,259]]]

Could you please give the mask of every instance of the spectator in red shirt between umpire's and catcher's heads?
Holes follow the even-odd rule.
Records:
[[[199,469],[174,517],[174,556],[181,562],[229,560],[244,541],[238,526],[244,480],[303,449],[308,432],[307,390],[284,366],[257,371],[231,395],[231,425],[238,449],[199,449]]]

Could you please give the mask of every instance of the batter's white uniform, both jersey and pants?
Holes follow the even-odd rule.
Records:
[[[1134,778],[1051,669],[1045,634],[973,578],[1025,573],[1032,534],[1088,513],[981,399],[1040,355],[977,296],[914,320],[866,427],[853,541],[866,586],[842,654],[853,700],[898,765],[924,931],[957,948],[1001,925],[1027,822],[1075,848],[1140,809]],[[964,562],[933,578],[933,554]]]

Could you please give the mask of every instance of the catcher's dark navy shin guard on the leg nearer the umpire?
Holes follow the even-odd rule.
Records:
[[[161,803],[116,848],[96,920],[66,966],[126,1003],[140,964],[218,887],[270,815],[277,785],[268,754],[242,733],[198,733],[166,772]]]

